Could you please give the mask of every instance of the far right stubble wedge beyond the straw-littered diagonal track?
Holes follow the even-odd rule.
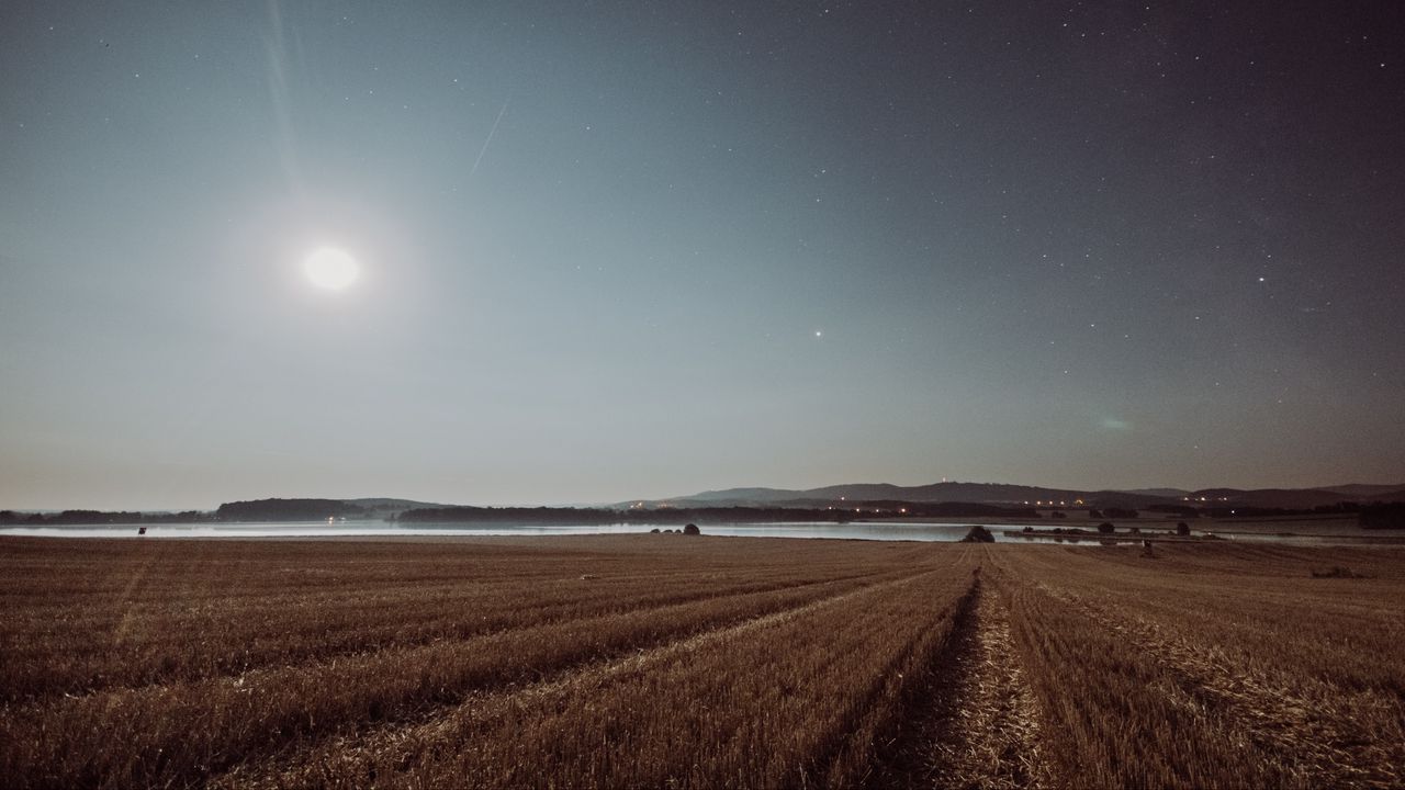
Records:
[[[1194,634],[1231,665],[1405,703],[1405,562],[1395,550],[1177,545],[1156,559],[1123,548],[1009,558],[1023,578]],[[1361,578],[1312,576],[1333,566]]]

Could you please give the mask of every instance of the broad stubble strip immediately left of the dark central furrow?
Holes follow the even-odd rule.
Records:
[[[962,569],[885,582],[554,683],[478,696],[413,728],[327,741],[222,783],[851,784],[905,671],[930,661],[968,585]]]

